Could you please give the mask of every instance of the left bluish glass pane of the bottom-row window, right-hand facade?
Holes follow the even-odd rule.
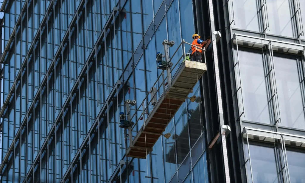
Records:
[[[280,168],[280,154],[278,148],[274,147],[274,144],[268,146],[250,144],[249,149],[251,154],[253,183],[282,183],[283,177]],[[245,156],[246,159],[248,159],[249,153],[247,144],[245,144],[245,150]],[[248,181],[252,182],[250,164],[247,163],[246,165],[248,170]]]

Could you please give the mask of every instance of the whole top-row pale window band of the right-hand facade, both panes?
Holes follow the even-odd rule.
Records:
[[[230,0],[232,28],[304,39],[302,0]]]

